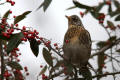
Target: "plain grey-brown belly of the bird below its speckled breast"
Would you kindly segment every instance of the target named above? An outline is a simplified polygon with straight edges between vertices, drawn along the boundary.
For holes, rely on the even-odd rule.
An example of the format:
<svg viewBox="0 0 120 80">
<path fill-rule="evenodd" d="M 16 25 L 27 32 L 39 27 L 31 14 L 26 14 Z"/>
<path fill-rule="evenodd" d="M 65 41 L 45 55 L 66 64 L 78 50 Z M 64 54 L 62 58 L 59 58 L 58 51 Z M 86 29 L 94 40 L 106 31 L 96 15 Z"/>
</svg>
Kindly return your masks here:
<svg viewBox="0 0 120 80">
<path fill-rule="evenodd" d="M 89 59 L 89 53 L 85 45 L 79 45 L 77 42 L 66 45 L 64 52 L 64 56 L 75 65 L 87 63 Z"/>
</svg>

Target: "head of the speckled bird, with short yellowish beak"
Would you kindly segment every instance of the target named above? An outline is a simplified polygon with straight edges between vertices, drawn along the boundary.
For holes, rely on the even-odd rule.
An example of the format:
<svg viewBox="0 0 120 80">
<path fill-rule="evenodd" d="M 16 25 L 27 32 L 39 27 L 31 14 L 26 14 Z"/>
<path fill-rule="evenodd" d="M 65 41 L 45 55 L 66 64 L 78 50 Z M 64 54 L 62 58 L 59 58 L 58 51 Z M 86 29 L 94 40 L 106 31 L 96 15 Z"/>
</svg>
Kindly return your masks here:
<svg viewBox="0 0 120 80">
<path fill-rule="evenodd" d="M 75 26 L 83 26 L 80 18 L 77 15 L 72 15 L 72 16 L 66 16 L 66 18 L 68 19 L 68 25 L 69 27 L 71 25 L 75 25 Z"/>
</svg>

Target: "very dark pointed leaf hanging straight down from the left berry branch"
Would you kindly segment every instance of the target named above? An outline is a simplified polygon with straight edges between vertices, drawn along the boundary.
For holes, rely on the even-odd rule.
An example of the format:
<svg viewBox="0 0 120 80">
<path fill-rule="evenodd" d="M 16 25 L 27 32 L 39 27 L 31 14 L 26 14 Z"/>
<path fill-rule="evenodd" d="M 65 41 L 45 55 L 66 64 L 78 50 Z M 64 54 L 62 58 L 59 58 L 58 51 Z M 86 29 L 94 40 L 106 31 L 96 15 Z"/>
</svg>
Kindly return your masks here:
<svg viewBox="0 0 120 80">
<path fill-rule="evenodd" d="M 36 39 L 29 39 L 30 42 L 30 48 L 33 52 L 33 54 L 37 57 L 39 53 L 39 44 Z"/>
</svg>

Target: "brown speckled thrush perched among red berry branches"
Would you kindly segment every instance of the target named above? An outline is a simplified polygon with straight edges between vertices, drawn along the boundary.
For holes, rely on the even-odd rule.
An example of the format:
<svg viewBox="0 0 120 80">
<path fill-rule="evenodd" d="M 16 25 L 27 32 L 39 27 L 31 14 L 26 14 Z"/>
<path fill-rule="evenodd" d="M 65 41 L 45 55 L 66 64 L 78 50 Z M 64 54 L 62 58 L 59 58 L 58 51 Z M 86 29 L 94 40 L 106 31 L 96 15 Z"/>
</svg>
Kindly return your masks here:
<svg viewBox="0 0 120 80">
<path fill-rule="evenodd" d="M 90 33 L 84 28 L 77 15 L 66 16 L 66 18 L 68 19 L 68 29 L 63 41 L 63 56 L 78 68 L 86 67 L 91 55 Z"/>
</svg>

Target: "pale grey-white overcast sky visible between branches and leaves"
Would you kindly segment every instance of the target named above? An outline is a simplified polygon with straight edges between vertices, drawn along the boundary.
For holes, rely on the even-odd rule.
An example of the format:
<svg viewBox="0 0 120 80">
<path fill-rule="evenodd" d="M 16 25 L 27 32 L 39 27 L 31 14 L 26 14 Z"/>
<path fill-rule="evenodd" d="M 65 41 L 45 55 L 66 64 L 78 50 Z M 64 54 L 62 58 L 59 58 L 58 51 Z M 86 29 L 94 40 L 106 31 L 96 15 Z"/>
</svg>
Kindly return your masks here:
<svg viewBox="0 0 120 80">
<path fill-rule="evenodd" d="M 3 0 L 4 1 L 4 0 Z M 103 0 L 79 0 L 79 2 L 89 5 L 95 6 L 98 5 L 99 2 Z M 83 12 L 83 9 L 72 9 L 66 10 L 67 8 L 73 6 L 72 0 L 53 0 L 46 12 L 43 11 L 42 8 L 36 10 L 43 0 L 16 0 L 15 6 L 11 7 L 10 5 L 3 5 L 0 7 L 1 12 L 4 14 L 7 10 L 12 10 L 12 15 L 20 15 L 25 11 L 32 11 L 27 18 L 19 23 L 19 26 L 27 26 L 32 27 L 39 31 L 39 36 L 50 39 L 52 44 L 59 43 L 62 45 L 64 34 L 68 28 L 68 21 L 65 18 L 65 15 L 78 15 L 80 17 L 80 12 Z M 104 7 L 103 11 L 106 10 L 107 7 Z M 0 14 L 2 16 L 3 14 Z M 81 18 L 81 17 L 80 17 Z M 100 27 L 99 22 L 95 20 L 89 13 L 81 18 L 84 27 L 90 32 L 91 38 L 93 41 L 105 41 L 108 39 L 108 35 L 106 31 Z M 96 46 L 92 45 L 92 48 Z M 36 80 L 37 75 L 41 71 L 40 65 L 45 65 L 45 61 L 42 56 L 42 48 L 41 45 L 39 56 L 36 58 L 30 50 L 29 43 L 25 43 L 19 46 L 20 52 L 22 55 L 20 58 L 20 63 L 23 66 L 28 66 L 28 70 L 30 75 L 27 76 L 27 80 Z M 90 60 L 90 63 L 93 67 L 97 67 L 96 61 Z M 56 79 L 61 80 L 61 79 Z M 104 78 L 103 78 L 104 80 Z M 108 77 L 107 80 L 113 80 L 111 77 Z"/>
</svg>

